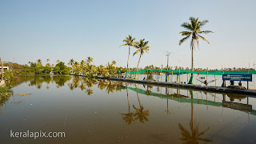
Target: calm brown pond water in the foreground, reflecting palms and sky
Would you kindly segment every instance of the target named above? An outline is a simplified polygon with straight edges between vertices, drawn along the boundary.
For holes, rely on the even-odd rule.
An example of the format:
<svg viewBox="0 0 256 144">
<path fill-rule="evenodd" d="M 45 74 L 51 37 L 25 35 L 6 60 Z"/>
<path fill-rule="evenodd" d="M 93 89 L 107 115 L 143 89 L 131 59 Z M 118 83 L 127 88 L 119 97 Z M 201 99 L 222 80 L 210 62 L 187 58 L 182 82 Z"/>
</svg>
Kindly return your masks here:
<svg viewBox="0 0 256 144">
<path fill-rule="evenodd" d="M 1 102 L 0 143 L 256 143 L 256 99 L 245 95 L 72 76 L 22 75 L 12 85 L 29 95 Z"/>
</svg>

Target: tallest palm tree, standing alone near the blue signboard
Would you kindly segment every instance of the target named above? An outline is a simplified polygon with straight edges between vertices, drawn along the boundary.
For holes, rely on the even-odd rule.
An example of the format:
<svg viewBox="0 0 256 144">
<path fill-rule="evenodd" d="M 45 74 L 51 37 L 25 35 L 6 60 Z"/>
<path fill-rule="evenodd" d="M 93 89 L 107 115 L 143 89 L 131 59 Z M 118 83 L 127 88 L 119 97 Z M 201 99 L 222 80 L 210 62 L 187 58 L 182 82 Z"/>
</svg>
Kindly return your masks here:
<svg viewBox="0 0 256 144">
<path fill-rule="evenodd" d="M 195 49 L 195 45 L 199 44 L 199 42 L 198 42 L 199 38 L 201 38 L 203 41 L 208 42 L 207 39 L 203 38 L 200 34 L 214 33 L 210 30 L 201 31 L 202 26 L 205 26 L 207 22 L 208 22 L 208 20 L 203 20 L 202 22 L 200 22 L 198 20 L 198 18 L 190 17 L 190 23 L 189 22 L 182 23 L 182 27 L 184 27 L 186 30 L 189 30 L 189 31 L 180 32 L 180 34 L 182 34 L 182 36 L 185 36 L 185 38 L 182 38 L 179 41 L 179 45 L 182 45 L 182 43 L 185 42 L 186 39 L 190 38 L 190 36 L 192 37 L 191 42 L 190 42 L 190 49 L 192 51 L 191 71 L 194 71 L 194 49 Z M 210 42 L 208 42 L 208 43 L 210 44 Z M 191 74 L 189 83 L 190 84 L 193 83 L 193 74 Z"/>
</svg>

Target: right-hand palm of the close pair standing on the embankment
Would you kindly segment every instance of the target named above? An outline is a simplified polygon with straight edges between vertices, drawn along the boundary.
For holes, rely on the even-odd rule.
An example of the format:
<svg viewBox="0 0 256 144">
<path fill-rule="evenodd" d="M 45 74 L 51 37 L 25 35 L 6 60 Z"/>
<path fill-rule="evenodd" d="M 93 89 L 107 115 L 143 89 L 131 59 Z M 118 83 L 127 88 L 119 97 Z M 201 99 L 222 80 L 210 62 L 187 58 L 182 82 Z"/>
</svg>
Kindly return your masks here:
<svg viewBox="0 0 256 144">
<path fill-rule="evenodd" d="M 144 41 L 145 41 L 145 38 L 141 39 L 139 42 L 135 42 L 135 45 L 134 45 L 136 48 L 138 48 L 138 50 L 136 50 L 134 52 L 134 55 L 140 53 L 139 59 L 138 59 L 138 64 L 142 58 L 142 54 L 147 53 L 150 50 L 150 46 L 147 46 L 148 41 L 146 41 L 146 42 L 144 42 Z M 137 71 L 138 71 L 138 66 L 137 66 Z M 137 76 L 137 74 L 136 74 L 136 76 Z"/>
</svg>

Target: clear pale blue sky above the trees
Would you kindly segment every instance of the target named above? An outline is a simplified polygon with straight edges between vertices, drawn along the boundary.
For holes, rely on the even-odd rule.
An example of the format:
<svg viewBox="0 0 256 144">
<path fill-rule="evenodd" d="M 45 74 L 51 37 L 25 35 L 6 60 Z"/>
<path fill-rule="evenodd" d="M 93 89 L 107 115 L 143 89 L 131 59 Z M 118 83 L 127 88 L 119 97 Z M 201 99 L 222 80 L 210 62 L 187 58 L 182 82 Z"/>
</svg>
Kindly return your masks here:
<svg viewBox="0 0 256 144">
<path fill-rule="evenodd" d="M 0 57 L 6 62 L 27 64 L 39 58 L 46 64 L 57 60 L 81 62 L 94 58 L 94 65 L 116 61 L 126 66 L 128 47 L 120 45 L 128 34 L 145 38 L 150 51 L 139 67 L 191 67 L 190 40 L 178 45 L 183 22 L 190 17 L 207 19 L 202 30 L 210 42 L 199 41 L 194 67 L 256 66 L 256 1 L 254 0 L 0 0 Z M 130 67 L 138 64 L 132 56 Z"/>
</svg>

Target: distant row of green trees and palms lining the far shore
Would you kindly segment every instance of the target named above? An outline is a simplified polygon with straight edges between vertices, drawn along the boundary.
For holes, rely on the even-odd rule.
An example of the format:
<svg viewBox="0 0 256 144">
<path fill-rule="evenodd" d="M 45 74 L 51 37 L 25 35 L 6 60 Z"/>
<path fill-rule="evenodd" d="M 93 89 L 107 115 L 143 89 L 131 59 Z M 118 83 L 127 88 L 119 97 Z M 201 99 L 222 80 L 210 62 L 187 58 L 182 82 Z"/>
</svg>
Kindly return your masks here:
<svg viewBox="0 0 256 144">
<path fill-rule="evenodd" d="M 42 65 L 42 60 L 38 59 L 37 62 L 28 62 L 26 65 L 19 65 L 17 63 L 5 62 L 4 66 L 10 66 L 10 69 L 15 74 L 86 74 L 88 76 L 104 76 L 109 77 L 110 75 L 116 74 L 118 71 L 136 71 L 136 70 L 167 70 L 167 66 L 145 66 L 144 68 L 133 67 L 127 69 L 126 67 L 116 66 L 116 62 L 107 62 L 106 65 L 95 66 L 92 63 L 94 62 L 94 58 L 87 57 L 85 60 L 81 62 L 76 62 L 74 58 L 70 59 L 67 65 L 64 62 L 57 61 L 56 65 L 50 64 L 49 60 L 47 61 L 45 66 Z M 127 62 L 128 64 L 128 62 Z M 190 70 L 189 67 L 182 66 L 170 66 L 168 70 Z M 196 71 L 206 71 L 206 68 L 194 68 Z M 210 70 L 218 70 L 218 69 L 209 69 Z M 221 70 L 225 71 L 247 71 L 254 70 L 253 68 L 223 68 Z M 6 73 L 8 74 L 8 73 Z"/>
</svg>

